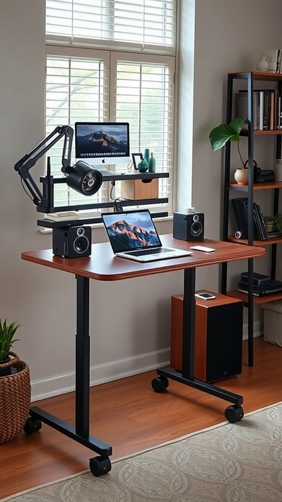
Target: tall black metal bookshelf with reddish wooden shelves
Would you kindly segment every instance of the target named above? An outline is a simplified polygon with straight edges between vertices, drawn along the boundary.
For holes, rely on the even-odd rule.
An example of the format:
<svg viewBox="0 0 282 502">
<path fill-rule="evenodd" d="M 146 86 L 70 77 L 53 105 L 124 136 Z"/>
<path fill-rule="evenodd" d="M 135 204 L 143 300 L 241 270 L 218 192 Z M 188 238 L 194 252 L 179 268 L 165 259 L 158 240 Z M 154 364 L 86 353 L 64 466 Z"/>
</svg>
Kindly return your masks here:
<svg viewBox="0 0 282 502">
<path fill-rule="evenodd" d="M 233 84 L 236 81 L 236 89 L 238 87 L 238 81 L 244 82 L 244 89 L 246 90 L 246 103 L 247 103 L 247 118 L 248 118 L 248 128 L 241 132 L 241 136 L 247 138 L 247 149 L 248 149 L 248 169 L 249 180 L 253 180 L 253 161 L 254 161 L 254 138 L 260 136 L 275 136 L 275 153 L 276 159 L 282 158 L 282 130 L 280 129 L 264 129 L 264 130 L 254 130 L 254 91 L 261 89 L 256 86 L 256 81 L 268 82 L 269 88 L 274 88 L 276 96 L 280 96 L 280 101 L 282 101 L 282 73 L 267 73 L 267 72 L 239 72 L 239 73 L 228 73 L 227 80 L 227 111 L 226 111 L 226 123 L 229 123 L 232 118 L 235 117 L 235 99 Z M 267 87 L 267 86 L 264 86 Z M 278 98 L 276 98 L 276 103 Z M 282 103 L 280 104 L 282 109 Z M 239 115 L 241 116 L 241 115 Z M 276 115 L 278 116 L 278 114 Z M 273 115 L 272 115 L 273 117 Z M 276 122 L 272 122 L 272 127 L 275 127 Z M 260 126 L 261 127 L 261 126 Z M 256 141 L 259 141 L 258 139 Z M 223 240 L 229 242 L 236 242 L 238 244 L 254 245 L 267 247 L 270 254 L 270 266 L 269 266 L 269 276 L 272 280 L 276 279 L 276 260 L 277 260 L 277 248 L 278 244 L 282 243 L 282 235 L 271 237 L 267 240 L 257 240 L 254 236 L 258 236 L 263 233 L 265 235 L 265 229 L 263 230 L 263 221 L 261 223 L 261 212 L 257 210 L 258 204 L 255 203 L 255 194 L 257 191 L 261 190 L 272 190 L 272 214 L 278 214 L 279 208 L 279 193 L 282 188 L 282 181 L 267 181 L 259 183 L 251 183 L 248 185 L 238 185 L 235 182 L 230 181 L 230 164 L 231 164 L 231 148 L 230 142 L 227 142 L 225 146 L 225 171 L 224 171 L 224 200 L 223 200 Z M 243 198 L 243 200 L 233 201 L 233 209 L 236 210 L 237 223 L 241 222 L 245 232 L 243 235 L 247 235 L 247 238 L 236 238 L 234 235 L 230 235 L 229 224 L 229 208 L 230 208 L 230 194 L 237 192 L 236 198 Z M 232 196 L 234 198 L 234 195 Z M 247 211 L 244 208 L 244 204 L 247 205 Z M 243 206 L 244 209 L 240 208 Z M 253 211 L 249 211 L 249 207 L 256 207 Z M 258 213 L 260 217 L 258 217 Z M 245 221 L 245 223 L 244 223 Z M 258 225 L 259 223 L 259 225 Z M 256 225 L 256 231 L 254 232 L 254 226 Z M 238 224 L 238 228 L 239 224 Z M 261 229 L 263 230 L 261 232 Z M 227 268 L 228 264 L 222 264 L 222 274 L 221 274 L 221 293 L 234 298 L 243 300 L 244 306 L 248 308 L 248 365 L 253 366 L 253 310 L 255 305 L 260 305 L 262 303 L 281 300 L 282 293 L 275 293 L 263 297 L 256 297 L 252 295 L 253 284 L 253 273 L 254 273 L 254 259 L 248 260 L 248 274 L 249 274 L 249 287 L 251 290 L 249 293 L 242 293 L 240 291 L 228 291 L 227 292 Z M 238 278 L 239 279 L 239 278 Z"/>
</svg>

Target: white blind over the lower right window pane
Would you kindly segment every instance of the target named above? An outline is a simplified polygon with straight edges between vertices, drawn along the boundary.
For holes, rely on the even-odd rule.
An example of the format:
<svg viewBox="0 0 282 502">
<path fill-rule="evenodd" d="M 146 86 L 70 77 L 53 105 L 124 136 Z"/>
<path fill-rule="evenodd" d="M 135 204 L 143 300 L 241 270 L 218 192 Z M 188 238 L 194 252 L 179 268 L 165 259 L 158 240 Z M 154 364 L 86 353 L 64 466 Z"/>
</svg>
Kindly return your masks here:
<svg viewBox="0 0 282 502">
<path fill-rule="evenodd" d="M 130 123 L 130 150 L 154 152 L 158 172 L 172 171 L 174 59 L 159 63 L 111 58 L 116 74 L 116 119 Z M 116 196 L 119 194 L 117 193 Z M 170 180 L 159 179 L 159 197 L 170 197 Z"/>
</svg>

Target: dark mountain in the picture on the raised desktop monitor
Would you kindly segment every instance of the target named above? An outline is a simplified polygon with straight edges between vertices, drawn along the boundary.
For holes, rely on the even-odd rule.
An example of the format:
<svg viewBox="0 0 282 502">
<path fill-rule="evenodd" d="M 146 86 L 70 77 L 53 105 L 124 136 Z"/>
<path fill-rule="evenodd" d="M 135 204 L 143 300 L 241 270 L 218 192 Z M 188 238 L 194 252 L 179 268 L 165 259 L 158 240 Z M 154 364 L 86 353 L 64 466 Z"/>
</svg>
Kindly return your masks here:
<svg viewBox="0 0 282 502">
<path fill-rule="evenodd" d="M 127 145 L 113 136 L 108 136 L 102 131 L 77 137 L 78 148 L 81 154 L 101 155 L 126 155 Z"/>
</svg>

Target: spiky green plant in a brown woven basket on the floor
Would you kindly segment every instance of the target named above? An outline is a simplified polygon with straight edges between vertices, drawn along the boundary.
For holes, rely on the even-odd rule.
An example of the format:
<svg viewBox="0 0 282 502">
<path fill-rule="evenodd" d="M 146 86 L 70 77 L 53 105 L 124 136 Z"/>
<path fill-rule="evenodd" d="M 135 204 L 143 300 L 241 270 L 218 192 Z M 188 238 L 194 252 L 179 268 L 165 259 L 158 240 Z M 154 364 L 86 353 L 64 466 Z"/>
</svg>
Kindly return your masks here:
<svg viewBox="0 0 282 502">
<path fill-rule="evenodd" d="M 23 429 L 31 403 L 30 370 L 11 351 L 20 323 L 0 319 L 0 444 L 14 439 Z"/>
</svg>

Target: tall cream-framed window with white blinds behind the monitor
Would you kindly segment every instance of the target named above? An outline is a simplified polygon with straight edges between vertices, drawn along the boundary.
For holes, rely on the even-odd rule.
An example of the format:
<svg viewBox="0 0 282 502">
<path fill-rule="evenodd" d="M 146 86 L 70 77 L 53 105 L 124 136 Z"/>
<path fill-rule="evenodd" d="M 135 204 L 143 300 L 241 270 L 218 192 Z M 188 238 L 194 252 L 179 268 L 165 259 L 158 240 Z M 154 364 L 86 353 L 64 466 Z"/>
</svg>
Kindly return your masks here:
<svg viewBox="0 0 282 502">
<path fill-rule="evenodd" d="M 172 212 L 176 0 L 46 0 L 46 134 L 75 121 L 128 121 L 130 151 L 154 152 L 159 197 Z M 61 175 L 61 144 L 49 152 Z M 73 148 L 74 156 L 74 148 Z M 75 162 L 75 159 L 72 159 Z M 114 166 L 118 171 L 127 165 Z M 59 187 L 59 188 L 57 188 Z M 55 185 L 55 205 L 120 196 L 103 183 L 92 197 Z M 89 200 L 91 199 L 91 200 Z"/>
</svg>

